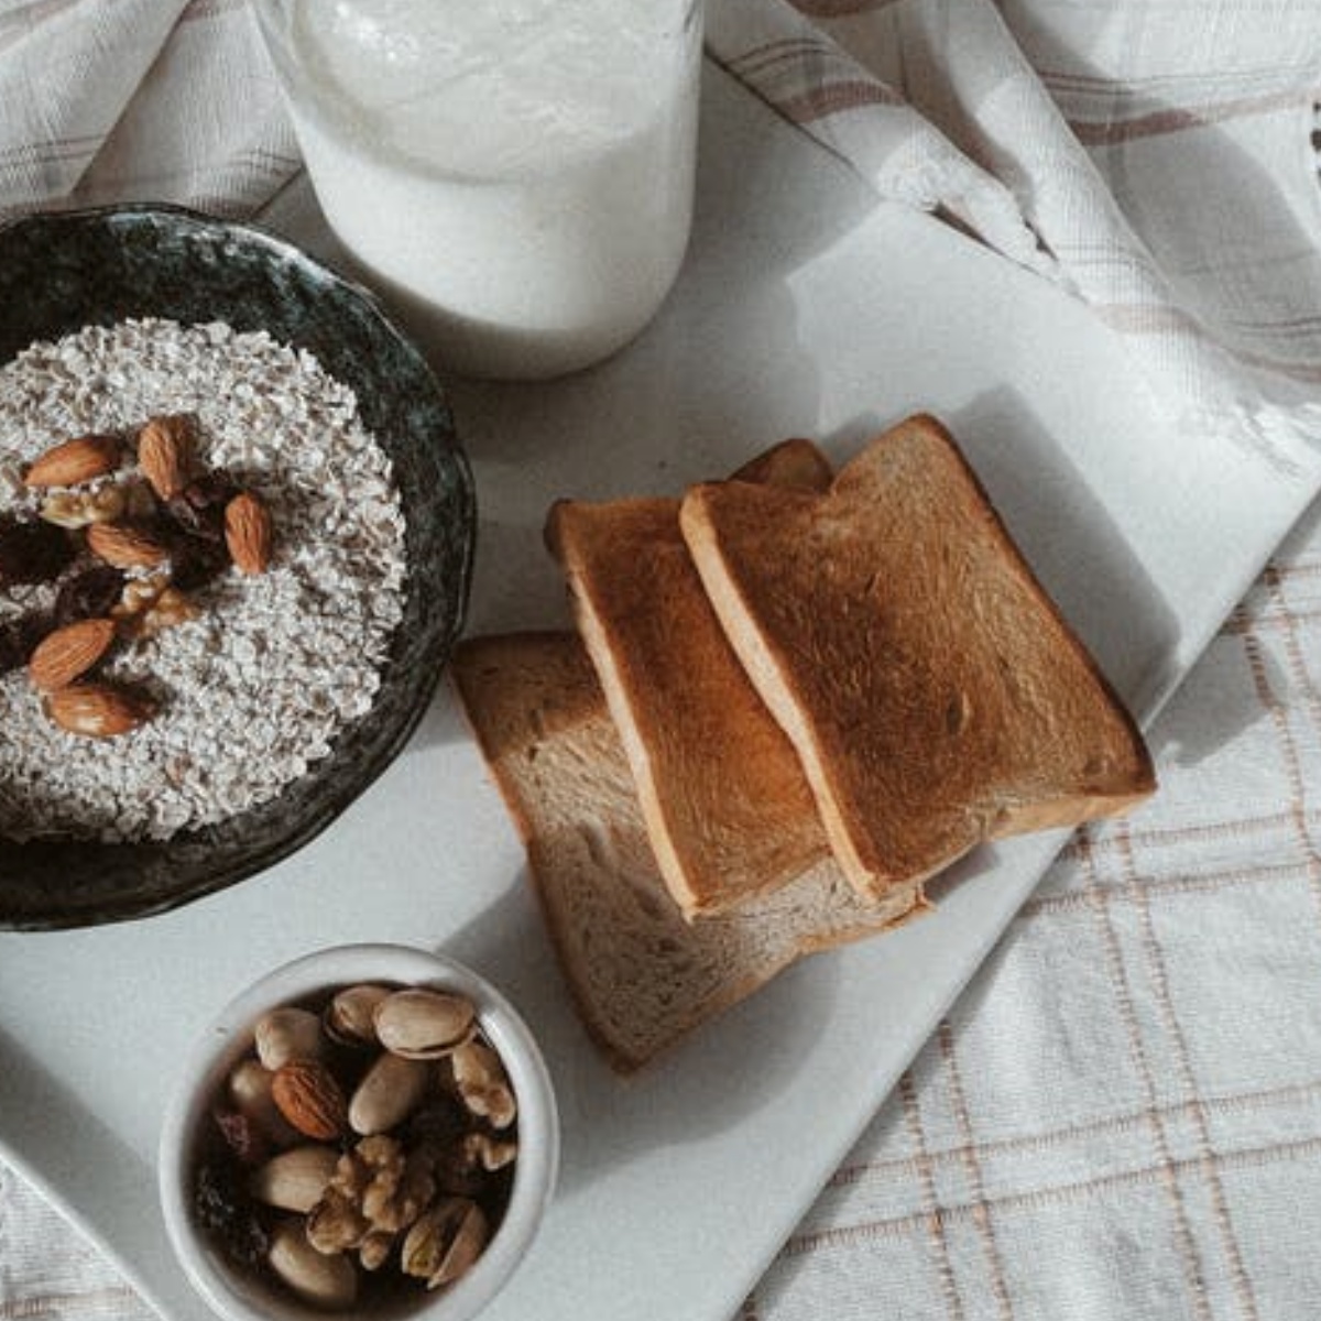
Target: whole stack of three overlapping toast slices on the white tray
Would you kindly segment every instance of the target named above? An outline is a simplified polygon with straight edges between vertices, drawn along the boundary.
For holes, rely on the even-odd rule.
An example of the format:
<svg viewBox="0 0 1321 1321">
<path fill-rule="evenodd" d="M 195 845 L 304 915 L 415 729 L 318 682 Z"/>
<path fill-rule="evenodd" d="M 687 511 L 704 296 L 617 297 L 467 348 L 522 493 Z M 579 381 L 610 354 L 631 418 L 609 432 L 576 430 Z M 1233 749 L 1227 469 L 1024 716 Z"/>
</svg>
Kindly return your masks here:
<svg viewBox="0 0 1321 1321">
<path fill-rule="evenodd" d="M 952 437 L 786 441 L 682 499 L 561 501 L 577 631 L 452 674 L 581 1017 L 624 1071 L 987 839 L 1122 812 L 1141 734 Z"/>
</svg>

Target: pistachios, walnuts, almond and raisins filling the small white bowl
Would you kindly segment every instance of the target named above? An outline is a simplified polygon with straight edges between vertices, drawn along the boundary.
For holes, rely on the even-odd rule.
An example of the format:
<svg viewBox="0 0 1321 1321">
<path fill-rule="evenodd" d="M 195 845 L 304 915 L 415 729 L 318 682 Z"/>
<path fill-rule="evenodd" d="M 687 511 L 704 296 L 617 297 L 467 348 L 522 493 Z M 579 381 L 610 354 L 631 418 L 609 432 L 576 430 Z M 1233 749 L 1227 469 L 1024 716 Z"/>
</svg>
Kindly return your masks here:
<svg viewBox="0 0 1321 1321">
<path fill-rule="evenodd" d="M 473 1004 L 358 984 L 268 1012 L 214 1099 L 201 1226 L 239 1267 L 342 1310 L 482 1255 L 509 1203 L 518 1106 Z"/>
</svg>

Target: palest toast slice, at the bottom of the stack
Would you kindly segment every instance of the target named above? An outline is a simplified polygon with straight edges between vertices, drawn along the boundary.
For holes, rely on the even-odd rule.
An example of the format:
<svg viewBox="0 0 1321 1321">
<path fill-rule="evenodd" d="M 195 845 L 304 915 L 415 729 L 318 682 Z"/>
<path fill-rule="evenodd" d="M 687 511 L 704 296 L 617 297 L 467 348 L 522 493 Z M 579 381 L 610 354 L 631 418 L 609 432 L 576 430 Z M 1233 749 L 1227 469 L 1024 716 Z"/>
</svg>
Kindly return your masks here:
<svg viewBox="0 0 1321 1321">
<path fill-rule="evenodd" d="M 464 641 L 450 676 L 527 848 L 580 1016 L 631 1071 L 795 959 L 925 910 L 861 900 L 826 859 L 736 913 L 684 921 L 657 868 L 596 672 L 571 633 Z"/>
</svg>

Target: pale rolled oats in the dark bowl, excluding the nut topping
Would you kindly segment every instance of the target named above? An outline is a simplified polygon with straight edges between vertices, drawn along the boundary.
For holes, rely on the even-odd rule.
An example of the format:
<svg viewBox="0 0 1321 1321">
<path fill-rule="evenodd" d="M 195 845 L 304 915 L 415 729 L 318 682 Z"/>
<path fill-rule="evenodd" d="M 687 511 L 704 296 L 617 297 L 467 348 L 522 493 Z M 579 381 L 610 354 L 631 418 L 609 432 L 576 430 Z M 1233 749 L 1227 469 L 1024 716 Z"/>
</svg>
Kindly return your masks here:
<svg viewBox="0 0 1321 1321">
<path fill-rule="evenodd" d="M 242 473 L 279 544 L 266 573 L 225 572 L 188 594 L 190 617 L 115 650 L 104 679 L 145 688 L 159 711 L 112 745 L 58 729 L 21 671 L 0 675 L 0 835 L 12 840 L 168 839 L 223 820 L 329 754 L 380 687 L 403 617 L 403 511 L 353 391 L 305 350 L 162 320 L 30 345 L 0 369 L 0 513 L 36 517 L 63 494 L 16 481 L 52 445 L 159 415 L 196 417 L 197 458 Z M 57 507 L 82 510 L 89 491 L 69 491 Z M 0 593 L 0 630 L 54 600 L 54 584 Z"/>
</svg>

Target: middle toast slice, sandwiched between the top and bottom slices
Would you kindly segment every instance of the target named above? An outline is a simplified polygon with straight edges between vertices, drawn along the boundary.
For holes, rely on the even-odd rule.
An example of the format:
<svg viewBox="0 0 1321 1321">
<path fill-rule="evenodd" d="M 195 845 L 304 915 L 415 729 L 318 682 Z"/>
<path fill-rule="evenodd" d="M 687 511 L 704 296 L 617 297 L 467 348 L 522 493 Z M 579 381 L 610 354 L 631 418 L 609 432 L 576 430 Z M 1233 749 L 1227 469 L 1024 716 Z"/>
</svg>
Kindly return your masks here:
<svg viewBox="0 0 1321 1321">
<path fill-rule="evenodd" d="M 803 490 L 824 490 L 831 476 L 806 440 L 734 473 Z M 711 609 L 679 531 L 679 501 L 560 501 L 546 536 L 684 915 L 727 911 L 824 857 L 798 754 Z"/>
</svg>

